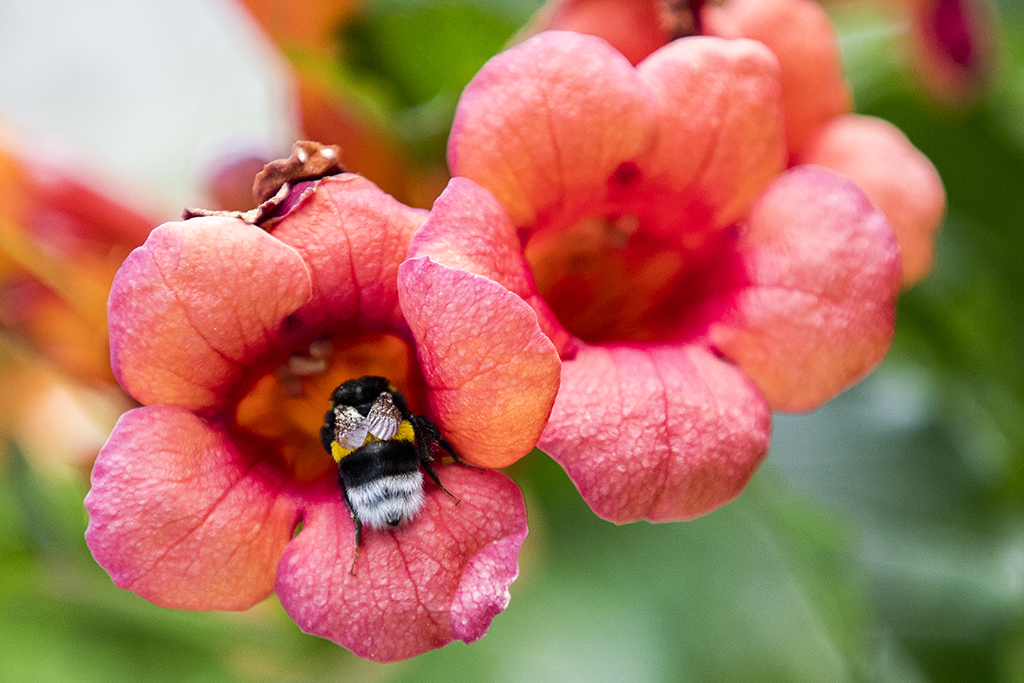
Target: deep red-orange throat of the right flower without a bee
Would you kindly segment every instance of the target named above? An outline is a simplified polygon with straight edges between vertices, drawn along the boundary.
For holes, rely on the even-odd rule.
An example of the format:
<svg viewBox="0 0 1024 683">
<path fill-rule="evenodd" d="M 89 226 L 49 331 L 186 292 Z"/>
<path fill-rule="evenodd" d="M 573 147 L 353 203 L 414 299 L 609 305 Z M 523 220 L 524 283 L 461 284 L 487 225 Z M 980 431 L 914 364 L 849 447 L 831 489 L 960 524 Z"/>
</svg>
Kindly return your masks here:
<svg viewBox="0 0 1024 683">
<path fill-rule="evenodd" d="M 736 272 L 736 231 L 670 242 L 626 214 L 542 230 L 525 255 L 538 291 L 588 343 L 678 341 L 699 333 L 702 307 Z"/>
</svg>

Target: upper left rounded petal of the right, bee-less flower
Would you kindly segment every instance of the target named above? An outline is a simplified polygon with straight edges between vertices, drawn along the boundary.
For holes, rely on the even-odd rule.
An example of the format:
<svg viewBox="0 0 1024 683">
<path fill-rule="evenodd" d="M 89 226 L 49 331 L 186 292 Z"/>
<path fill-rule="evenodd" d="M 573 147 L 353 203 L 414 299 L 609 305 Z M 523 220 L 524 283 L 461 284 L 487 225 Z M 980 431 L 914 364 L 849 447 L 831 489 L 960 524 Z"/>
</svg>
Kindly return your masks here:
<svg viewBox="0 0 1024 683">
<path fill-rule="evenodd" d="M 652 142 L 655 102 L 600 38 L 542 33 L 493 57 L 462 93 L 453 175 L 489 189 L 516 225 L 599 210 L 616 170 Z"/>
</svg>

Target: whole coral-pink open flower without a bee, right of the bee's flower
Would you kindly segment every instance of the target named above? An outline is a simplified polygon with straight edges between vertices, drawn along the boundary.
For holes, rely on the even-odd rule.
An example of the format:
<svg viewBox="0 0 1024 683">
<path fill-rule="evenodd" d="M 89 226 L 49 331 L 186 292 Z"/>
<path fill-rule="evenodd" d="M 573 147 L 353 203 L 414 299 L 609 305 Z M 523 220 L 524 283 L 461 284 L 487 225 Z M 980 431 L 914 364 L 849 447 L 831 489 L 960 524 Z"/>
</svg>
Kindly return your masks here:
<svg viewBox="0 0 1024 683">
<path fill-rule="evenodd" d="M 729 502 L 771 410 L 812 410 L 885 356 L 892 228 L 850 180 L 786 157 L 778 59 L 753 40 L 684 38 L 634 67 L 546 32 L 463 92 L 446 198 L 461 199 L 430 220 L 461 212 L 504 236 L 500 260 L 525 274 L 503 284 L 563 360 L 539 446 L 600 516 Z"/>
</svg>

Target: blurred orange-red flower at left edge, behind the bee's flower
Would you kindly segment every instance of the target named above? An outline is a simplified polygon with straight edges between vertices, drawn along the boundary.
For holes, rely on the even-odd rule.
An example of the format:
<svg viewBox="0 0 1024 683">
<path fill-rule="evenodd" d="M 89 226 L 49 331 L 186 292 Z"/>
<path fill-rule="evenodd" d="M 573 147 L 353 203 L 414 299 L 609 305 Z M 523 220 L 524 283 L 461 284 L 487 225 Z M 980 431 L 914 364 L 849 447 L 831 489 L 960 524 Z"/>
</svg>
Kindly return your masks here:
<svg viewBox="0 0 1024 683">
<path fill-rule="evenodd" d="M 106 293 L 156 220 L 0 148 L 0 328 L 58 370 L 115 385 Z"/>
</svg>

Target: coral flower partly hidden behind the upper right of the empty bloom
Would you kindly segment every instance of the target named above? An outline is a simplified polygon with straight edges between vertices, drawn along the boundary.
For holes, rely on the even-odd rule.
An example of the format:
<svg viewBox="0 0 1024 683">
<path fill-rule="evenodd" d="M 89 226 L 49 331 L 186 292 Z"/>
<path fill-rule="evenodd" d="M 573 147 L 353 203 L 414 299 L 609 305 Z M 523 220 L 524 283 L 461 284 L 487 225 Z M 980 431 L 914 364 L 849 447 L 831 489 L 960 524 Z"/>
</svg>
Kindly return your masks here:
<svg viewBox="0 0 1024 683">
<path fill-rule="evenodd" d="M 932 269 L 945 215 L 942 180 L 928 158 L 888 121 L 851 114 L 842 55 L 827 14 L 811 0 L 727 0 L 706 7 L 707 35 L 754 38 L 782 66 L 792 164 L 818 164 L 853 179 L 892 223 L 903 285 Z"/>
</svg>

